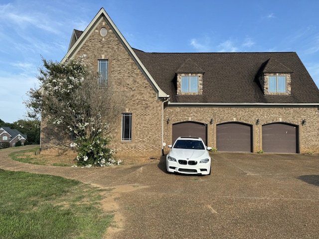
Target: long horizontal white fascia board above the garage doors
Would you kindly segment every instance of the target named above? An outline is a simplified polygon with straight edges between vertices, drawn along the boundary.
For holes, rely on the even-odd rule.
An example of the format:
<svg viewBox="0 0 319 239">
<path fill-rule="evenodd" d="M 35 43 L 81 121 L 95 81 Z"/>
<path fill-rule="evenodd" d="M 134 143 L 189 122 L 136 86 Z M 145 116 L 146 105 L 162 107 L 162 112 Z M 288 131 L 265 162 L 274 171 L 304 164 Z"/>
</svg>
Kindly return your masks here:
<svg viewBox="0 0 319 239">
<path fill-rule="evenodd" d="M 318 107 L 319 103 L 182 103 L 168 102 L 168 106 L 235 106 L 235 107 Z"/>
</svg>

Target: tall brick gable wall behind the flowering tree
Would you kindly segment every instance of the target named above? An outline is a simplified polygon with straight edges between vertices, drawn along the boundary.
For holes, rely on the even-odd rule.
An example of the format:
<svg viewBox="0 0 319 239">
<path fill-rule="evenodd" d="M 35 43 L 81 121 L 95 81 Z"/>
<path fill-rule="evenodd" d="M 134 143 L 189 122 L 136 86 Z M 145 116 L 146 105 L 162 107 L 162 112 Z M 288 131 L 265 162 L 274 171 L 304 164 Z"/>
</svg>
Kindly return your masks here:
<svg viewBox="0 0 319 239">
<path fill-rule="evenodd" d="M 101 36 L 100 29 L 106 27 L 106 36 Z M 158 156 L 161 154 L 161 112 L 162 103 L 147 78 L 143 75 L 133 58 L 104 19 L 91 29 L 87 40 L 72 55 L 98 71 L 98 59 L 109 62 L 108 81 L 113 87 L 121 89 L 126 97 L 125 112 L 132 113 L 132 141 L 122 141 L 122 118 L 119 115 L 117 126 L 112 129 L 110 147 L 118 150 L 118 156 Z M 69 147 L 70 136 L 62 129 L 52 128 L 42 123 L 41 148 Z M 43 152 L 43 151 L 42 151 Z M 45 152 L 43 152 L 45 153 Z"/>
</svg>

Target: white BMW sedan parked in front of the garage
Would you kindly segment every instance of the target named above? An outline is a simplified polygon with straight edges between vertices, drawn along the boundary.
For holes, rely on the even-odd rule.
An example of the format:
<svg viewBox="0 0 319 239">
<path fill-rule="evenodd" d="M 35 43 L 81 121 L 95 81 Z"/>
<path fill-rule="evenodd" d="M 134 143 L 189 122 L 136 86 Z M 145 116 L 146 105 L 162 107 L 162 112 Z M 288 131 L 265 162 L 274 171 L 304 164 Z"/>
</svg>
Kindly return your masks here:
<svg viewBox="0 0 319 239">
<path fill-rule="evenodd" d="M 210 156 L 200 137 L 178 137 L 166 156 L 168 173 L 210 174 Z"/>
</svg>

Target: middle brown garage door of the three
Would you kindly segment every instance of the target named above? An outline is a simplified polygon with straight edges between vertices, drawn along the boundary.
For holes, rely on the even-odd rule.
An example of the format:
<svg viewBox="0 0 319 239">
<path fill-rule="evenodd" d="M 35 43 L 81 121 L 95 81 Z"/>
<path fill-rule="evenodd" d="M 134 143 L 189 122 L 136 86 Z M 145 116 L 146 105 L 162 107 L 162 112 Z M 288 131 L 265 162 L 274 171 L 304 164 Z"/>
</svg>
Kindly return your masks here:
<svg viewBox="0 0 319 239">
<path fill-rule="evenodd" d="M 251 152 L 252 126 L 244 123 L 222 123 L 216 125 L 218 151 Z"/>
</svg>

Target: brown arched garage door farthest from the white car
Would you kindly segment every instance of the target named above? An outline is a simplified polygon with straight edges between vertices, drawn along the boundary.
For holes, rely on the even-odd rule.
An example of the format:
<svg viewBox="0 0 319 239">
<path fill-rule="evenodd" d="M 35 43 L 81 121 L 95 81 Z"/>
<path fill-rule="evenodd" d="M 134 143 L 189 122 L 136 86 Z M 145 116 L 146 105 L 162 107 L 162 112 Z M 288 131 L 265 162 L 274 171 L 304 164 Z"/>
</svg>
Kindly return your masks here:
<svg viewBox="0 0 319 239">
<path fill-rule="evenodd" d="M 298 126 L 286 123 L 263 125 L 263 150 L 274 153 L 298 152 Z"/>
</svg>

